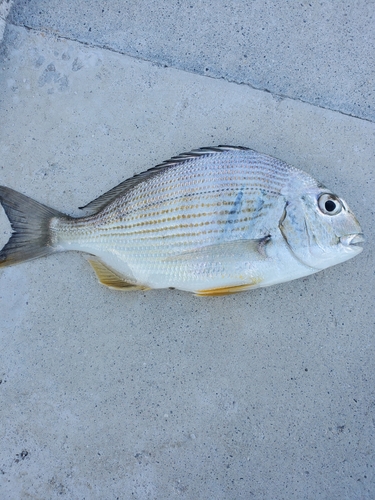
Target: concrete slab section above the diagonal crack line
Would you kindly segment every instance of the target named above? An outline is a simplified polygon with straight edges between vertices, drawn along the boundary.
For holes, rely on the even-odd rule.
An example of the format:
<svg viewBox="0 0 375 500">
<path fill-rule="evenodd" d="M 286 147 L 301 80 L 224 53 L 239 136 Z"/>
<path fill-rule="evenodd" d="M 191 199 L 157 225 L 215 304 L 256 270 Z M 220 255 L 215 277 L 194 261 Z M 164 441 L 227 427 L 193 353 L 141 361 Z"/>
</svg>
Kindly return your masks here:
<svg viewBox="0 0 375 500">
<path fill-rule="evenodd" d="M 373 0 L 18 0 L 10 20 L 375 120 Z"/>
</svg>

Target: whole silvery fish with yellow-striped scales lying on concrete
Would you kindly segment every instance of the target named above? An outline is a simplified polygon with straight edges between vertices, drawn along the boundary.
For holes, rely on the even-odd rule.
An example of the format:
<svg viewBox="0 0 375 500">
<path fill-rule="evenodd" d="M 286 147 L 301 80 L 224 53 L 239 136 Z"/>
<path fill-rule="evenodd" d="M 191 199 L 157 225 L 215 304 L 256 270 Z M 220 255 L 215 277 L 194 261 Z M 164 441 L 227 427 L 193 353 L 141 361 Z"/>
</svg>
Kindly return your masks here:
<svg viewBox="0 0 375 500">
<path fill-rule="evenodd" d="M 347 203 L 308 173 L 242 146 L 196 149 L 135 175 L 71 217 L 5 186 L 0 267 L 88 254 L 115 290 L 222 296 L 344 262 L 364 236 Z"/>
</svg>

